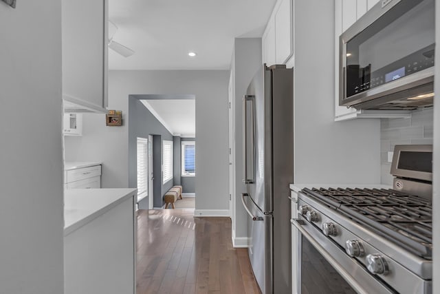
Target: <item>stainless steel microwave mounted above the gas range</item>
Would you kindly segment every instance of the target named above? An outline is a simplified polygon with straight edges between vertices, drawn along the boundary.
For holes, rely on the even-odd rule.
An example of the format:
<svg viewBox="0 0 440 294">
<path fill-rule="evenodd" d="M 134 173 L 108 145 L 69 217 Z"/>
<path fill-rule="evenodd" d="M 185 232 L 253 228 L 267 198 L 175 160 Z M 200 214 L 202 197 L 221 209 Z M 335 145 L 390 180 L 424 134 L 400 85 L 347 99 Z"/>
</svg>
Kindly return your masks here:
<svg viewBox="0 0 440 294">
<path fill-rule="evenodd" d="M 341 106 L 433 105 L 434 0 L 381 0 L 340 36 Z"/>
</svg>

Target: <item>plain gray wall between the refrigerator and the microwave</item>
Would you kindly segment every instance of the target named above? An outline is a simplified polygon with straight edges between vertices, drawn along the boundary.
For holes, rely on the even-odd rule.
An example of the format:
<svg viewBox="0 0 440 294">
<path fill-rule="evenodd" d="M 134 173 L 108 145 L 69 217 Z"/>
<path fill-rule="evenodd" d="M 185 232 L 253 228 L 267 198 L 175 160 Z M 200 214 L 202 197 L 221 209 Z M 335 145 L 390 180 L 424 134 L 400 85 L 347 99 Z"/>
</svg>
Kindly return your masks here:
<svg viewBox="0 0 440 294">
<path fill-rule="evenodd" d="M 295 2 L 294 182 L 377 184 L 380 120 L 334 121 L 333 6 Z"/>
</svg>

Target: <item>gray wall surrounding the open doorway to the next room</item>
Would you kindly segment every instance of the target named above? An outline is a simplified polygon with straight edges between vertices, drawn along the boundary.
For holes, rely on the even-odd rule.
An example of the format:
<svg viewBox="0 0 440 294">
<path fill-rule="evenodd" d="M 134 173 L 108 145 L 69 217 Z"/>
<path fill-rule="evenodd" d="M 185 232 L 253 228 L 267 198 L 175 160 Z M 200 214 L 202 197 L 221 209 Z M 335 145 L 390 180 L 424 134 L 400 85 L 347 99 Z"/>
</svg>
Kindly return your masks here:
<svg viewBox="0 0 440 294">
<path fill-rule="evenodd" d="M 109 109 L 122 110 L 123 125 L 106 127 L 104 115 L 86 116 L 83 136 L 66 148 L 70 153 L 66 159 L 100 160 L 104 162 L 102 187 L 128 187 L 130 94 L 195 95 L 196 209 L 227 210 L 228 71 L 225 70 L 110 71 Z M 66 145 L 72 141 L 66 141 Z"/>
</svg>

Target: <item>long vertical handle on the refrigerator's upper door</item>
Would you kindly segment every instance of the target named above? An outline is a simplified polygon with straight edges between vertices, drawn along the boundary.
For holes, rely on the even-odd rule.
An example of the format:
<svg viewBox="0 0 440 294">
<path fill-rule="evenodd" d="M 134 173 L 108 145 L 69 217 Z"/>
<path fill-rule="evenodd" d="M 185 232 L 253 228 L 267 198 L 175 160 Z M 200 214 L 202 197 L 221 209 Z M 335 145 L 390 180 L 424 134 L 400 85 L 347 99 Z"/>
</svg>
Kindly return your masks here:
<svg viewBox="0 0 440 294">
<path fill-rule="evenodd" d="M 248 109 L 250 104 L 250 109 Z M 248 118 L 250 116 L 250 121 Z M 252 127 L 252 134 L 248 134 L 248 129 Z M 252 184 L 255 182 L 254 176 L 254 158 L 255 158 L 255 96 L 243 96 L 243 182 Z M 251 146 L 248 146 L 248 136 L 251 136 Z M 252 154 L 248 154 L 248 150 L 252 150 Z"/>
</svg>

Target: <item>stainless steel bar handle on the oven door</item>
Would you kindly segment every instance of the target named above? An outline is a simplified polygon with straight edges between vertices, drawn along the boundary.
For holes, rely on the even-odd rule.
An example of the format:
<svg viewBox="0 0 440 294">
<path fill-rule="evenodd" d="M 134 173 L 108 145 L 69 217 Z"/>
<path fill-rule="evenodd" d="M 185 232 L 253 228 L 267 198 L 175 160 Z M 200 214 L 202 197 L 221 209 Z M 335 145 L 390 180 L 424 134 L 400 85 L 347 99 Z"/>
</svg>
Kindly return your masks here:
<svg viewBox="0 0 440 294">
<path fill-rule="evenodd" d="M 316 240 L 309 234 L 309 232 L 307 232 L 303 228 L 303 224 L 305 224 L 304 220 L 300 218 L 292 218 L 290 222 L 296 227 L 296 229 L 298 229 L 298 231 L 300 231 L 301 234 L 303 234 L 303 236 L 305 236 L 305 238 L 307 238 L 307 240 L 316 248 L 316 250 L 318 250 L 319 253 L 321 253 L 322 256 L 324 256 L 324 258 L 331 264 L 331 266 L 333 266 L 336 269 L 336 271 L 338 271 L 338 273 L 340 273 L 340 275 L 344 277 L 344 280 L 346 280 L 347 283 L 349 283 L 353 288 L 355 288 L 355 290 L 358 293 L 369 294 L 369 292 L 364 291 L 362 286 L 360 286 L 360 284 L 358 284 L 358 282 L 354 280 L 353 277 L 351 277 L 350 273 L 347 270 L 345 270 L 339 264 L 339 262 L 335 258 L 333 258 L 333 256 L 331 256 L 321 244 L 316 242 Z"/>
</svg>

